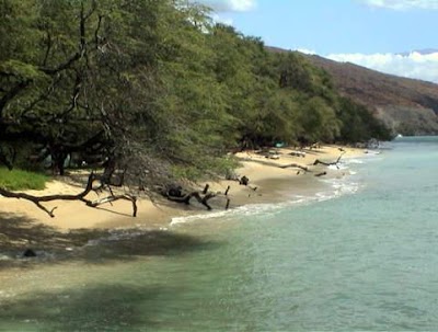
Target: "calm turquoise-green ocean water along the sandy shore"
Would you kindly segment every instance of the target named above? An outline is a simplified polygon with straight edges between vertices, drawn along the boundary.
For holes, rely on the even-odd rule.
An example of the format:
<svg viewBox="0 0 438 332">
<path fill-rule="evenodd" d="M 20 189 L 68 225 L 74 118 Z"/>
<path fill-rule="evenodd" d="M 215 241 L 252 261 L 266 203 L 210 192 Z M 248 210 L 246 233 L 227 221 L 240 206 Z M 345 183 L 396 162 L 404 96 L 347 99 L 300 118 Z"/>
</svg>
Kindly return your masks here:
<svg viewBox="0 0 438 332">
<path fill-rule="evenodd" d="M 0 270 L 0 331 L 438 331 L 437 164 L 402 138 L 315 196 L 175 219 L 153 254 L 139 228 Z"/>
</svg>

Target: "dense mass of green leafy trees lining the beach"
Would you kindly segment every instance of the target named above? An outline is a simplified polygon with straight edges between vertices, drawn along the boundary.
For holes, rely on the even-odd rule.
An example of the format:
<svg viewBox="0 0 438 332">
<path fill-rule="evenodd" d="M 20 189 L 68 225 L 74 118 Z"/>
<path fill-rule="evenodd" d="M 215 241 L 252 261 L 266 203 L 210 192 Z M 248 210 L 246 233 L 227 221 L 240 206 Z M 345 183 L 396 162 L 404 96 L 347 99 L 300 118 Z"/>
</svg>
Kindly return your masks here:
<svg viewBox="0 0 438 332">
<path fill-rule="evenodd" d="M 0 162 L 50 157 L 62 174 L 69 157 L 151 187 L 224 174 L 230 150 L 389 138 L 325 71 L 209 14 L 177 0 L 1 1 Z"/>
</svg>

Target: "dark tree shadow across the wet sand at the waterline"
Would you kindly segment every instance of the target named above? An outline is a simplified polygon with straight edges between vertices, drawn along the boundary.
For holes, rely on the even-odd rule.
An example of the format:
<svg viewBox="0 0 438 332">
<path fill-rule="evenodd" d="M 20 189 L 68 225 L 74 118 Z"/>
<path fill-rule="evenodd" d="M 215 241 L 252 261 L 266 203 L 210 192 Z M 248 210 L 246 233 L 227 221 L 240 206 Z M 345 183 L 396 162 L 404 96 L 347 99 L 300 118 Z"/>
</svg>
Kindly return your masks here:
<svg viewBox="0 0 438 332">
<path fill-rule="evenodd" d="M 0 213 L 0 270 L 80 260 L 106 263 L 149 255 L 178 255 L 210 250 L 219 242 L 158 229 L 76 229 L 60 232 L 20 215 Z M 34 257 L 25 257 L 32 249 Z"/>
</svg>

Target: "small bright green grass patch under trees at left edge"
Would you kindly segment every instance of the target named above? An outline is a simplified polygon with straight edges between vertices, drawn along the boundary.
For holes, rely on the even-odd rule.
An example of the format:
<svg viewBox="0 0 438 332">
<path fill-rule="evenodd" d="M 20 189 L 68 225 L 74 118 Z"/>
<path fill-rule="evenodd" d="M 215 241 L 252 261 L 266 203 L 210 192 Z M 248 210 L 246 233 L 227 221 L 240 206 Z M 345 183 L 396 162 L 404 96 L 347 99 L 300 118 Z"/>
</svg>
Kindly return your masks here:
<svg viewBox="0 0 438 332">
<path fill-rule="evenodd" d="M 0 168 L 0 186 L 9 191 L 44 190 L 49 178 L 35 172 Z"/>
</svg>

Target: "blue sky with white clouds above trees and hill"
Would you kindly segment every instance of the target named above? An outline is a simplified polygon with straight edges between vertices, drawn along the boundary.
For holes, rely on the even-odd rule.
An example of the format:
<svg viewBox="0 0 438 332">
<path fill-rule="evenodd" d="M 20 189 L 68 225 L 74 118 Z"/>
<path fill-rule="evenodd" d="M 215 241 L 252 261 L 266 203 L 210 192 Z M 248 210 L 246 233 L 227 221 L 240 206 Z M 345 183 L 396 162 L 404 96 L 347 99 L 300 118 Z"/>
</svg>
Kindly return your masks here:
<svg viewBox="0 0 438 332">
<path fill-rule="evenodd" d="M 196 0 L 266 45 L 438 83 L 438 0 Z M 428 50 L 428 51 L 419 51 Z"/>
</svg>

